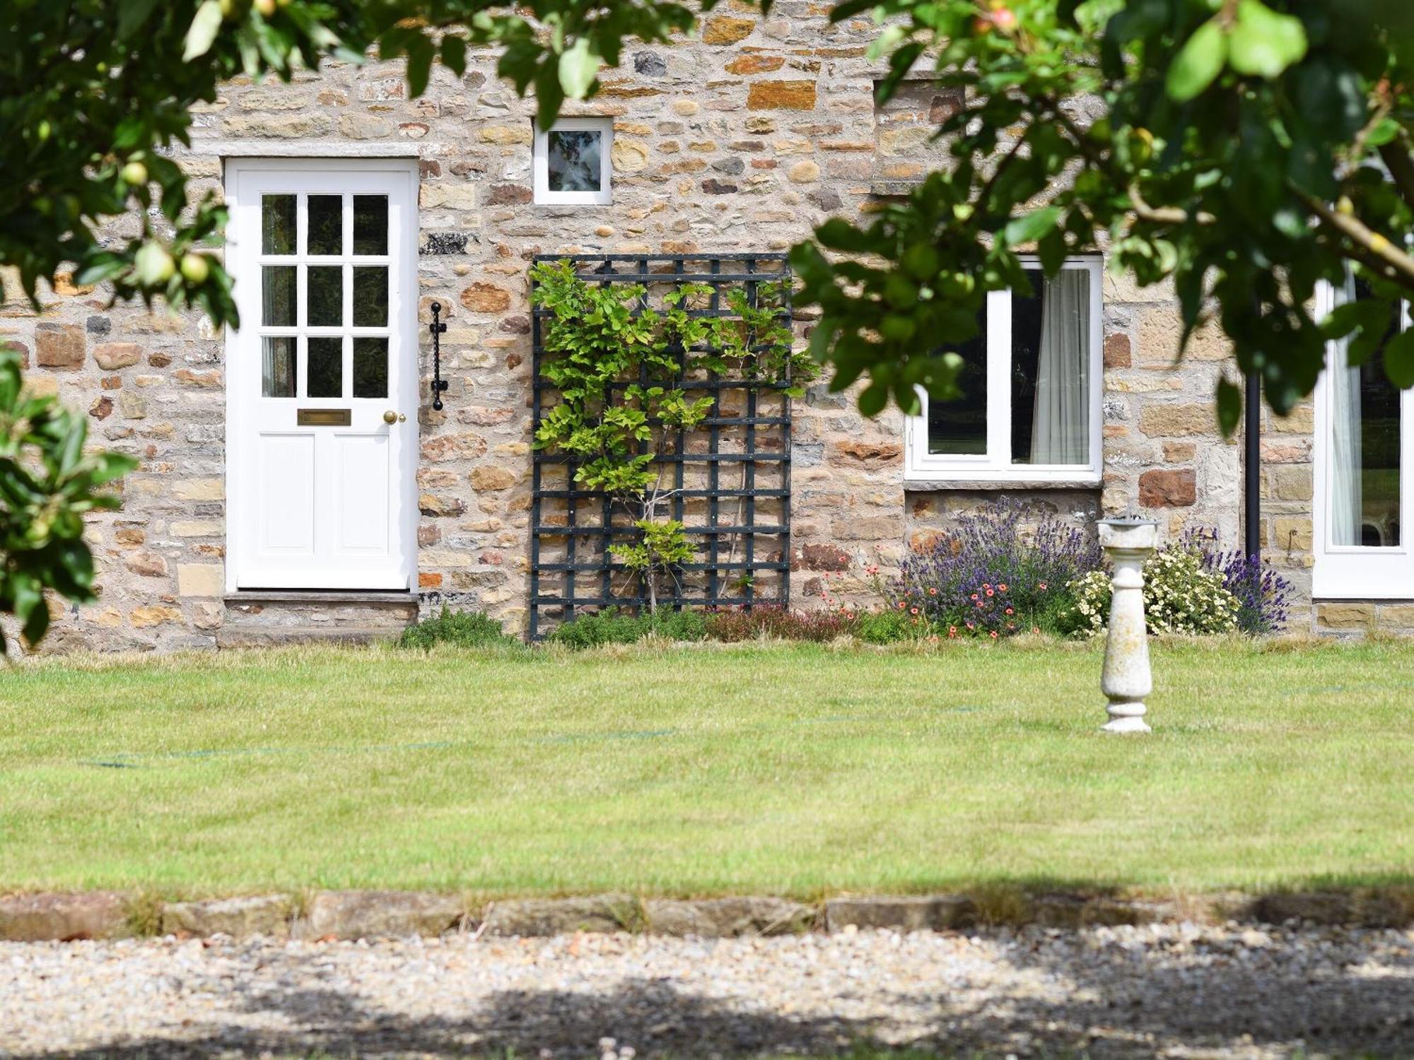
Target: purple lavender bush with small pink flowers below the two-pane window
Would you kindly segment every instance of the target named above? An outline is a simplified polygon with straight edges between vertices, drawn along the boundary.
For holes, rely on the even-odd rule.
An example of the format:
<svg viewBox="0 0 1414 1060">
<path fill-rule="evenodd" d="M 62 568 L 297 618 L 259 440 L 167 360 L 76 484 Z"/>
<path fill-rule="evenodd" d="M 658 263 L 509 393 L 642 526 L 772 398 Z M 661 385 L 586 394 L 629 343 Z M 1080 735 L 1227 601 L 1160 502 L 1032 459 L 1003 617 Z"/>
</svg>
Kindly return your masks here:
<svg viewBox="0 0 1414 1060">
<path fill-rule="evenodd" d="M 959 519 L 932 547 L 911 554 L 888 581 L 870 568 L 889 611 L 952 637 L 998 639 L 1063 632 L 1069 585 L 1099 571 L 1094 536 L 1052 513 L 1000 500 Z M 1027 529 L 1029 524 L 1029 529 Z"/>
</svg>

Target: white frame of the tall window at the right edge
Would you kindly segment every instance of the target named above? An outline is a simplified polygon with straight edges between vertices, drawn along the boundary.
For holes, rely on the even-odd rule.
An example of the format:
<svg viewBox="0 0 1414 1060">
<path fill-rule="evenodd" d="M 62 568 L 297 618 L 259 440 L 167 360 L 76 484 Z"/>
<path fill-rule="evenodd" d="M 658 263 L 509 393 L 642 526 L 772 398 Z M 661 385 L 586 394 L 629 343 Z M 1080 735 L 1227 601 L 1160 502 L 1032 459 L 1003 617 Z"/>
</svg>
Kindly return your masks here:
<svg viewBox="0 0 1414 1060">
<path fill-rule="evenodd" d="M 1321 284 L 1316 291 L 1316 315 L 1325 318 L 1338 304 L 1353 297 L 1355 285 L 1348 283 L 1338 291 Z M 1404 302 L 1404 328 L 1414 326 L 1410 304 Z M 1339 339 L 1326 345 L 1326 367 L 1346 363 L 1349 342 Z M 1326 370 L 1316 379 L 1315 438 L 1311 459 L 1314 468 L 1314 502 L 1311 516 L 1311 595 L 1316 599 L 1407 599 L 1414 596 L 1414 551 L 1410 548 L 1410 517 L 1414 516 L 1414 390 L 1400 396 L 1400 544 L 1397 546 L 1339 546 L 1331 543 L 1329 468 L 1335 441 L 1331 410 L 1331 386 Z M 1277 541 L 1285 547 L 1285 541 Z"/>
</svg>

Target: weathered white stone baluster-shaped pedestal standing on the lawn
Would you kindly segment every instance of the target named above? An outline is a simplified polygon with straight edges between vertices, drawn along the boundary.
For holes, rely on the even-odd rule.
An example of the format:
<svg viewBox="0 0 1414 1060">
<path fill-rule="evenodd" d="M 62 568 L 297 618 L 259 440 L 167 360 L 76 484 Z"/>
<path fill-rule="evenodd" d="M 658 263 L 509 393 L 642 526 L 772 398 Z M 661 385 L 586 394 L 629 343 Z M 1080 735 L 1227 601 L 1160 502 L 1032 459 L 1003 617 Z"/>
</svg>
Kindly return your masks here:
<svg viewBox="0 0 1414 1060">
<path fill-rule="evenodd" d="M 1151 732 L 1144 697 L 1154 690 L 1144 625 L 1144 561 L 1158 546 L 1158 523 L 1126 516 L 1099 522 L 1100 547 L 1114 564 L 1110 630 L 1104 639 L 1100 691 L 1110 701 L 1104 732 Z"/>
</svg>

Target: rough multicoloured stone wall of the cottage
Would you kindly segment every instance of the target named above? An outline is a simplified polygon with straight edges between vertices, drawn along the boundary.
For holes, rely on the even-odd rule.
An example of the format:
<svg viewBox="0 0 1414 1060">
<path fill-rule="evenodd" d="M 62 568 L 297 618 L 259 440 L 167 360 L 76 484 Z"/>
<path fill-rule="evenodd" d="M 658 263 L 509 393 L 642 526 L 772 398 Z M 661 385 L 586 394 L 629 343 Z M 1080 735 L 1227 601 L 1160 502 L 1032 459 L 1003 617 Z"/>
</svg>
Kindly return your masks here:
<svg viewBox="0 0 1414 1060">
<path fill-rule="evenodd" d="M 604 92 L 570 113 L 614 117 L 614 202 L 536 206 L 532 105 L 474 57 L 462 78 L 436 69 L 407 99 L 399 62 L 331 64 L 291 85 L 228 83 L 199 107 L 178 157 L 195 191 L 219 189 L 222 155 L 406 154 L 420 160 L 420 321 L 450 307 L 445 410 L 419 413 L 419 588 L 522 625 L 529 554 L 529 307 L 537 253 L 785 250 L 831 213 L 861 216 L 906 191 L 942 155 L 932 126 L 959 100 L 911 83 L 884 109 L 865 58 L 868 18 L 829 25 L 802 0 L 772 17 L 715 14 L 697 42 L 629 48 Z M 122 230 L 124 223 L 116 225 Z M 11 288 L 13 291 L 14 288 Z M 208 646 L 225 620 L 223 342 L 204 321 L 109 307 L 103 290 L 61 283 L 34 314 L 3 307 L 30 384 L 86 408 L 93 438 L 137 455 L 123 509 L 95 517 L 102 595 L 58 615 L 57 646 Z M 1164 290 L 1106 283 L 1104 482 L 1039 490 L 1038 503 L 1090 520 L 1131 505 L 1164 530 L 1222 529 L 1237 541 L 1240 448 L 1215 438 L 1213 380 L 1227 351 L 1199 336 L 1175 366 L 1178 314 Z M 426 348 L 423 370 L 430 373 Z M 426 386 L 421 393 L 426 396 Z M 1311 420 L 1270 423 L 1267 546 L 1302 584 L 1311 555 Z M 902 421 L 861 421 L 823 384 L 796 403 L 795 602 L 824 574 L 888 567 L 977 490 L 905 490 Z M 840 579 L 836 579 L 840 581 Z M 1373 618 L 1370 619 L 1373 620 Z"/>
</svg>

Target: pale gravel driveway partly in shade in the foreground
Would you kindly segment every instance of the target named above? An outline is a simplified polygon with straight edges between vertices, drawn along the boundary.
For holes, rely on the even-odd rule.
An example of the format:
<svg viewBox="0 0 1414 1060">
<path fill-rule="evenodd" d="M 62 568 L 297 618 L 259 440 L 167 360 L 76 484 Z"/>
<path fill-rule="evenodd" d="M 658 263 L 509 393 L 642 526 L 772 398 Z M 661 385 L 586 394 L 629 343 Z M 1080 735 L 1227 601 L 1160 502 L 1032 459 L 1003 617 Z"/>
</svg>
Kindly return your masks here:
<svg viewBox="0 0 1414 1060">
<path fill-rule="evenodd" d="M 1414 933 L 0 944 L 0 1056 L 1414 1056 Z"/>
</svg>

